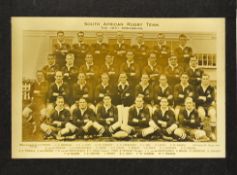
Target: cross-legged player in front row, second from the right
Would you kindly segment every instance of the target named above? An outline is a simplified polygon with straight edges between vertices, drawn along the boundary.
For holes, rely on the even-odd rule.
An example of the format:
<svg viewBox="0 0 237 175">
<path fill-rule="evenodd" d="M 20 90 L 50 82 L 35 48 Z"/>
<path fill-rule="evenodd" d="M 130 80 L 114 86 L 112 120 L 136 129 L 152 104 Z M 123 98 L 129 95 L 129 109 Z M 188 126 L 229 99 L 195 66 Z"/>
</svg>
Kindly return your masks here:
<svg viewBox="0 0 237 175">
<path fill-rule="evenodd" d="M 170 141 L 177 138 L 175 130 L 178 126 L 175 121 L 174 111 L 169 108 L 167 98 L 161 98 L 160 108 L 155 110 L 149 125 L 149 128 L 143 130 L 144 135 L 151 134 L 155 138 L 162 137 L 163 139 Z"/>
</svg>

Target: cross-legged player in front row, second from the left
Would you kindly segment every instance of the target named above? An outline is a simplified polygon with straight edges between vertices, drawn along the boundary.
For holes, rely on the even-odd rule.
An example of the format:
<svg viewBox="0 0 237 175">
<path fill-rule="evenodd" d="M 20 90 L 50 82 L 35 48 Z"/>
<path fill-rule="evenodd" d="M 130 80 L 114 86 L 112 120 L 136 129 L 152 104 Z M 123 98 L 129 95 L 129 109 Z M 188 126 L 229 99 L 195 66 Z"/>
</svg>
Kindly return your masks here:
<svg viewBox="0 0 237 175">
<path fill-rule="evenodd" d="M 77 107 L 72 111 L 71 131 L 77 132 L 79 137 L 92 138 L 102 136 L 105 129 L 96 121 L 95 112 L 88 107 L 86 99 L 80 98 Z"/>
</svg>

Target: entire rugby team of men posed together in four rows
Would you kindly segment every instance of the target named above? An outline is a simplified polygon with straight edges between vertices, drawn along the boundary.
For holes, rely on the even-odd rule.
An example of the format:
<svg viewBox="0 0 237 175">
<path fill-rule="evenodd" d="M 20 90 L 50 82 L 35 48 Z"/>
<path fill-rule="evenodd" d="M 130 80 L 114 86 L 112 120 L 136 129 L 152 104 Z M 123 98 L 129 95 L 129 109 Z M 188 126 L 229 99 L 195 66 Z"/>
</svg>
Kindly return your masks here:
<svg viewBox="0 0 237 175">
<path fill-rule="evenodd" d="M 32 114 L 40 111 L 46 138 L 216 140 L 215 88 L 186 46 L 186 35 L 174 52 L 164 34 L 153 49 L 141 33 L 130 47 L 120 32 L 113 46 L 103 43 L 101 32 L 91 46 L 83 32 L 77 36 L 70 47 L 57 33 L 54 53 L 31 86 L 32 103 L 23 110 L 34 125 Z"/>
</svg>

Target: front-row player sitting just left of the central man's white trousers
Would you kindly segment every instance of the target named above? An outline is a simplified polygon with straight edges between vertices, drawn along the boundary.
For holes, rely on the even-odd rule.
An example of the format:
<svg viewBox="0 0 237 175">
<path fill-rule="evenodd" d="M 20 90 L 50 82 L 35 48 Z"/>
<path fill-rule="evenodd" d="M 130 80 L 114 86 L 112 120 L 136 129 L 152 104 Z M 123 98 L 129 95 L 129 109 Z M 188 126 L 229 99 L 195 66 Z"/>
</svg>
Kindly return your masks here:
<svg viewBox="0 0 237 175">
<path fill-rule="evenodd" d="M 121 122 L 118 121 L 118 109 L 112 105 L 111 97 L 108 95 L 104 96 L 103 104 L 98 106 L 97 121 L 105 127 L 103 136 L 111 136 L 121 127 Z"/>
</svg>

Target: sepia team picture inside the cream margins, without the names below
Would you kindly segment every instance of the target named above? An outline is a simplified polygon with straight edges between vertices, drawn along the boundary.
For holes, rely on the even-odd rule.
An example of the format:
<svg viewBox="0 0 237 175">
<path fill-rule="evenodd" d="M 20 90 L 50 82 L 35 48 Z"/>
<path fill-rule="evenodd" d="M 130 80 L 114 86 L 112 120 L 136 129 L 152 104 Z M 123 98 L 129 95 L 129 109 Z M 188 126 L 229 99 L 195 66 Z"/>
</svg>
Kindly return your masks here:
<svg viewBox="0 0 237 175">
<path fill-rule="evenodd" d="M 22 142 L 218 142 L 215 32 L 84 25 L 22 31 Z"/>
</svg>

